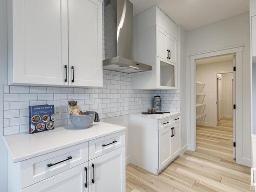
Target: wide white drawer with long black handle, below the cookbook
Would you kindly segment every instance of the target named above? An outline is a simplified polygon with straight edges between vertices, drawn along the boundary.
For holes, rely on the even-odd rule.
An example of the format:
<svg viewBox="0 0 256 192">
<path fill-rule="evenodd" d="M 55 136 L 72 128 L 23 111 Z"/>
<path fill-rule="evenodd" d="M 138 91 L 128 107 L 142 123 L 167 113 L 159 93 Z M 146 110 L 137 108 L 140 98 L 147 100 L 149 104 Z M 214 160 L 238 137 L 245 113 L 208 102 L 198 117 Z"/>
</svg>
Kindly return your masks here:
<svg viewBox="0 0 256 192">
<path fill-rule="evenodd" d="M 20 162 L 23 189 L 88 161 L 88 142 Z"/>
</svg>

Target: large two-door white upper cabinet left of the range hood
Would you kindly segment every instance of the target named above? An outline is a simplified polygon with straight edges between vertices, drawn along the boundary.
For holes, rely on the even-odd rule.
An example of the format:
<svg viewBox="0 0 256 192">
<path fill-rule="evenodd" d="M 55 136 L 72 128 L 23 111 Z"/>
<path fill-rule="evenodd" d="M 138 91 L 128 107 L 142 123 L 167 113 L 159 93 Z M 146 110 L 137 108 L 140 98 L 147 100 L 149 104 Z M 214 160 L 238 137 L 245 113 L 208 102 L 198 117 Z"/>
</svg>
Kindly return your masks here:
<svg viewBox="0 0 256 192">
<path fill-rule="evenodd" d="M 8 1 L 9 84 L 102 86 L 101 12 L 98 0 Z"/>
</svg>

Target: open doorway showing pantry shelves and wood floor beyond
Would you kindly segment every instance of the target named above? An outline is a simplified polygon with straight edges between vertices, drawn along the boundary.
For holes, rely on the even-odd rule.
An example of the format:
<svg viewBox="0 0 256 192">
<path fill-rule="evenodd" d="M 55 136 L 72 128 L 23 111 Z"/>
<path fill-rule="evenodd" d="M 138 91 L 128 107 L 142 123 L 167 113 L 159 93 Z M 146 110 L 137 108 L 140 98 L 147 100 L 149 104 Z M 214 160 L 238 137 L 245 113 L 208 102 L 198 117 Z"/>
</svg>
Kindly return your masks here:
<svg viewBox="0 0 256 192">
<path fill-rule="evenodd" d="M 236 158 L 233 117 L 234 55 L 196 60 L 197 152 L 234 161 Z"/>
</svg>

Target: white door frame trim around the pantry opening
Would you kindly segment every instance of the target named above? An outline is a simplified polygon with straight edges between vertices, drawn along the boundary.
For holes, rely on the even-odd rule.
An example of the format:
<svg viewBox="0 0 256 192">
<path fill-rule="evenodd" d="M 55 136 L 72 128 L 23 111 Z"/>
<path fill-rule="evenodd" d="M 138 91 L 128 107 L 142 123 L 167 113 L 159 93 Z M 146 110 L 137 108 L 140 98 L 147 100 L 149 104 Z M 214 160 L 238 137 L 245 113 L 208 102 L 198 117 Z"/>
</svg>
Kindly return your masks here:
<svg viewBox="0 0 256 192">
<path fill-rule="evenodd" d="M 236 55 L 236 161 L 242 164 L 242 52 L 244 46 L 231 47 L 190 55 L 190 129 L 188 150 L 196 151 L 196 60 L 207 57 Z M 189 118 L 189 117 L 188 117 Z"/>
</svg>

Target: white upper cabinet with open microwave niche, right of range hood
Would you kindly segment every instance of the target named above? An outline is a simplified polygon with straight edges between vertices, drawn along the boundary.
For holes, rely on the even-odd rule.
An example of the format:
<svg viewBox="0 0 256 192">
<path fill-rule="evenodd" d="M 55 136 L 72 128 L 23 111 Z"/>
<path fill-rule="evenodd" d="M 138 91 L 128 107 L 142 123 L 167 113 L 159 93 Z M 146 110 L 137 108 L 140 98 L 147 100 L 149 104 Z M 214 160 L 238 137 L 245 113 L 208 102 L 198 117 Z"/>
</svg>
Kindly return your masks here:
<svg viewBox="0 0 256 192">
<path fill-rule="evenodd" d="M 132 89 L 177 89 L 177 25 L 158 7 L 134 17 L 134 60 L 152 71 L 132 74 Z"/>
</svg>

